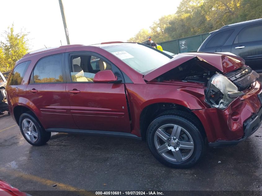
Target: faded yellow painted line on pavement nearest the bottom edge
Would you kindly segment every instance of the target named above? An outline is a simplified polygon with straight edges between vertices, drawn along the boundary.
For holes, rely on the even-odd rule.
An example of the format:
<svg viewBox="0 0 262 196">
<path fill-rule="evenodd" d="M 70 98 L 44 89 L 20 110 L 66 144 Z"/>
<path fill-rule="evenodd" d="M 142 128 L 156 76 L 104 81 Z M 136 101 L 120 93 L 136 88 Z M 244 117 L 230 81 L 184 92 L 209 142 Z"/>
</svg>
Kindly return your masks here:
<svg viewBox="0 0 262 196">
<path fill-rule="evenodd" d="M 5 169 L 5 168 L 0 168 L 0 171 L 7 173 L 8 175 L 16 176 L 16 177 L 19 177 L 19 178 L 22 178 L 22 179 L 28 180 L 28 181 L 35 181 L 35 182 L 38 182 L 40 184 L 47 185 L 47 186 L 57 185 L 56 187 L 59 188 L 60 190 L 75 191 L 75 192 L 78 192 L 79 195 L 83 195 L 83 196 L 95 195 L 94 193 L 92 193 L 90 191 L 86 191 L 84 189 L 78 189 L 78 188 L 75 188 L 75 187 L 70 186 L 70 185 L 66 185 L 66 184 L 63 184 L 63 183 L 60 183 L 60 182 L 56 182 L 56 181 L 51 181 L 51 180 L 41 178 L 41 177 L 38 177 L 38 176 L 34 176 L 34 175 L 31 175 L 31 174 L 26 174 L 24 172 L 20 172 L 20 171 L 17 171 L 17 170 L 13 170 L 13 169 L 9 170 L 9 169 Z"/>
</svg>

